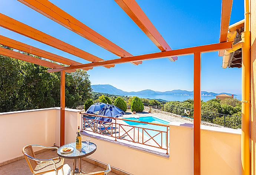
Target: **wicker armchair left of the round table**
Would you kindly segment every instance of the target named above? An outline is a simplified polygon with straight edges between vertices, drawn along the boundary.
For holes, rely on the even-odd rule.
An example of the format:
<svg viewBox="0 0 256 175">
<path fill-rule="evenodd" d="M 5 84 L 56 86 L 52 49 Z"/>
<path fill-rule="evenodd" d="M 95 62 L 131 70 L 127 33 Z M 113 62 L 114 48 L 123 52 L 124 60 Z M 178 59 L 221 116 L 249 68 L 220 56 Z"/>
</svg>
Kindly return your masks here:
<svg viewBox="0 0 256 175">
<path fill-rule="evenodd" d="M 63 172 L 63 165 L 64 159 L 63 158 L 53 158 L 53 159 L 36 159 L 35 152 L 33 151 L 32 147 L 41 147 L 46 149 L 58 149 L 57 147 L 48 147 L 48 146 L 41 146 L 41 145 L 27 145 L 24 146 L 22 149 L 22 153 L 29 165 L 30 171 L 33 175 L 45 174 L 47 172 L 55 171 L 55 174 L 58 175 L 58 170 L 62 170 Z"/>
</svg>

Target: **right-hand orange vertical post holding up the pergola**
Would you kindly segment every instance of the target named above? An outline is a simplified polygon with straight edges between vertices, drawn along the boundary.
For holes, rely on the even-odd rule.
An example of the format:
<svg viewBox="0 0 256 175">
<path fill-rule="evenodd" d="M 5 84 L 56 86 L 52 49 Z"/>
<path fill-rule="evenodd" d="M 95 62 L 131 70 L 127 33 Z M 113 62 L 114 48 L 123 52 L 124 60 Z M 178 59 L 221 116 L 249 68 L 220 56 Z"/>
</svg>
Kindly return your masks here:
<svg viewBox="0 0 256 175">
<path fill-rule="evenodd" d="M 194 53 L 194 175 L 201 174 L 201 53 Z"/>
</svg>

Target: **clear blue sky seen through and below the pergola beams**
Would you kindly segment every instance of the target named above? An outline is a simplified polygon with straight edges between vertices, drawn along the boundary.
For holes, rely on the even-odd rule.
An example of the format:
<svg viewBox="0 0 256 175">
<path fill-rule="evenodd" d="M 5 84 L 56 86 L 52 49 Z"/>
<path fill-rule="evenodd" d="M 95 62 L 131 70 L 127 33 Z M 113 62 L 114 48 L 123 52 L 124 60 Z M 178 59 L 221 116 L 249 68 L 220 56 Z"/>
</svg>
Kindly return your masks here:
<svg viewBox="0 0 256 175">
<path fill-rule="evenodd" d="M 124 48 L 132 55 L 160 52 L 140 28 L 114 0 L 50 0 L 96 32 Z M 172 49 L 219 42 L 221 0 L 178 1 L 137 0 Z M 30 9 L 16 0 L 1 0 L 0 13 L 50 34 L 93 55 L 109 60 L 117 56 L 102 49 Z M 244 18 L 243 1 L 233 0 L 230 24 Z M 30 44 L 46 51 L 82 62 L 86 60 L 62 52 L 43 43 L 0 27 L 6 37 Z M 241 94 L 241 69 L 221 67 L 222 57 L 217 52 L 202 54 L 201 89 L 211 92 Z M 92 85 L 110 84 L 125 91 L 152 89 L 193 90 L 193 56 L 179 56 L 175 62 L 168 59 L 131 63 L 114 68 L 95 67 L 88 71 Z"/>
</svg>

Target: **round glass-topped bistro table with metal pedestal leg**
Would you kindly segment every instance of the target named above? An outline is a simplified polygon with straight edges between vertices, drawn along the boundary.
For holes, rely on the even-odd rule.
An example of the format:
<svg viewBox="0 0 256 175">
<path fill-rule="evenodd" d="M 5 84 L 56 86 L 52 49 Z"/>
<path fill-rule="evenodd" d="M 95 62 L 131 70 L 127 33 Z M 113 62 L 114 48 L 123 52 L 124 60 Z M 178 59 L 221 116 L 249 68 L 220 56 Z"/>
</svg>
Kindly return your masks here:
<svg viewBox="0 0 256 175">
<path fill-rule="evenodd" d="M 64 147 L 72 147 L 74 150 L 72 152 L 69 153 L 61 153 L 60 150 L 62 150 L 62 148 Z M 64 159 L 73 159 L 73 172 L 74 174 L 79 174 L 82 172 L 82 158 L 91 155 L 92 153 L 94 153 L 97 149 L 97 146 L 92 143 L 89 142 L 89 146 L 87 146 L 86 142 L 82 142 L 82 148 L 76 148 L 76 143 L 68 143 L 66 145 L 61 146 L 58 151 L 57 154 L 59 157 L 64 158 Z M 76 168 L 76 160 L 78 159 L 79 164 L 78 167 Z"/>
</svg>

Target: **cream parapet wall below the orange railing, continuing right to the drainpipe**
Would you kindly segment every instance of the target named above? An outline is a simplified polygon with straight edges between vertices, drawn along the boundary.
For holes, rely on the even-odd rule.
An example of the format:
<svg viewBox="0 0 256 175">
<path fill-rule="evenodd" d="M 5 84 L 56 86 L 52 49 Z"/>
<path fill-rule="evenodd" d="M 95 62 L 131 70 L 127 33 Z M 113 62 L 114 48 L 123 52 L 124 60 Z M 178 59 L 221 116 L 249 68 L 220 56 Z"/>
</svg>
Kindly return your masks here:
<svg viewBox="0 0 256 175">
<path fill-rule="evenodd" d="M 240 175 L 239 130 L 201 126 L 202 175 Z M 170 158 L 145 153 L 128 146 L 91 138 L 97 151 L 91 158 L 134 175 L 192 175 L 193 125 L 172 122 Z"/>
</svg>

